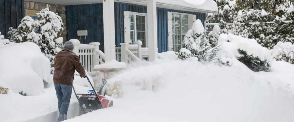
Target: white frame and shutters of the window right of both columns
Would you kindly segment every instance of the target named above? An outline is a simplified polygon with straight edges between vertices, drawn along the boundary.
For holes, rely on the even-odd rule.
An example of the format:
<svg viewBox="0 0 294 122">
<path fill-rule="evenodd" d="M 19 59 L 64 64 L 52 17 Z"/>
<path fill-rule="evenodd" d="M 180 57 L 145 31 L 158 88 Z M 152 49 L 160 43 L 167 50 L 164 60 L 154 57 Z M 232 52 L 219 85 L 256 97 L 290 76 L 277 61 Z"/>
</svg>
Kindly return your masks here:
<svg viewBox="0 0 294 122">
<path fill-rule="evenodd" d="M 174 49 L 174 41 L 173 40 L 173 33 L 172 33 L 172 14 L 179 14 L 179 15 L 188 15 L 188 30 L 190 30 L 193 26 L 193 23 L 196 21 L 196 15 L 193 14 L 187 14 L 187 13 L 178 13 L 178 12 L 168 12 L 168 50 L 175 51 Z M 182 21 L 181 21 L 182 25 Z M 182 27 L 181 27 L 182 30 Z M 181 36 L 182 38 L 182 36 Z M 183 46 L 183 40 L 181 41 L 181 44 Z"/>
</svg>

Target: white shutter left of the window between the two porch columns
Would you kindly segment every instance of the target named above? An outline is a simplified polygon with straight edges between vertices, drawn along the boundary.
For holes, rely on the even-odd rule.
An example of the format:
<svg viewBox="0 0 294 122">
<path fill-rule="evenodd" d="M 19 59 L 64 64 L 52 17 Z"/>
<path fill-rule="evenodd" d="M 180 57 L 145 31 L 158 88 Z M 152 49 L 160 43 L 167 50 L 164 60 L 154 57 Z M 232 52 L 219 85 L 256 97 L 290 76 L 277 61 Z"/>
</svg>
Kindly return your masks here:
<svg viewBox="0 0 294 122">
<path fill-rule="evenodd" d="M 131 43 L 130 37 L 130 12 L 124 11 L 124 34 L 125 34 L 125 43 Z"/>
</svg>

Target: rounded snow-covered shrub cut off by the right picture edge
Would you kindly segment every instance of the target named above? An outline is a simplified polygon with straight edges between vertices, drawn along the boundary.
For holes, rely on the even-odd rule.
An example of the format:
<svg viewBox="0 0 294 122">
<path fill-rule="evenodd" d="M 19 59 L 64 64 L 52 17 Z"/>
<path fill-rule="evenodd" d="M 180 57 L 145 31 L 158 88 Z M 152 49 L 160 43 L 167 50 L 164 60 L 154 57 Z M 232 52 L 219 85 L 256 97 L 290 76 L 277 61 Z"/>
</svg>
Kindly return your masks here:
<svg viewBox="0 0 294 122">
<path fill-rule="evenodd" d="M 294 44 L 279 41 L 271 50 L 271 54 L 277 61 L 286 61 L 294 64 Z"/>
</svg>

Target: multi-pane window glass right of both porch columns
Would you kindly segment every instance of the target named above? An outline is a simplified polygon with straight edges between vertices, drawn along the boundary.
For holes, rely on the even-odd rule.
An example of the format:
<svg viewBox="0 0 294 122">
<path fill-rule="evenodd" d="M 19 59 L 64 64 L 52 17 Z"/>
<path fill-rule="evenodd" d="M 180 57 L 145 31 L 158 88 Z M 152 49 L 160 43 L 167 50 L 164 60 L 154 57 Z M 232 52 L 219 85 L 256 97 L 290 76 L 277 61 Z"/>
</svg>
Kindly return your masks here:
<svg viewBox="0 0 294 122">
<path fill-rule="evenodd" d="M 188 22 L 188 15 L 172 14 L 172 41 L 175 52 L 179 52 L 183 48 L 183 39 L 189 30 Z"/>
</svg>

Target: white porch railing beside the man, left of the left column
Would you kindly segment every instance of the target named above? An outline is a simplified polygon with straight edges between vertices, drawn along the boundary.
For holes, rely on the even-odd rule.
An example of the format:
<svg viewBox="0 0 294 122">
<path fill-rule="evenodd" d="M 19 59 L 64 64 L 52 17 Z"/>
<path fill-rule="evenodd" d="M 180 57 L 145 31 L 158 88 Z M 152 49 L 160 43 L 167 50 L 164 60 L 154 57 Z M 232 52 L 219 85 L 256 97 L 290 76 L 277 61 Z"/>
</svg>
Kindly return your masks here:
<svg viewBox="0 0 294 122">
<path fill-rule="evenodd" d="M 89 73 L 94 72 L 94 66 L 98 64 L 103 64 L 105 61 L 104 53 L 99 50 L 99 42 L 92 42 L 89 45 L 80 44 L 77 39 L 71 39 L 74 43 L 74 53 L 80 57 L 80 61 L 85 70 Z"/>
</svg>

